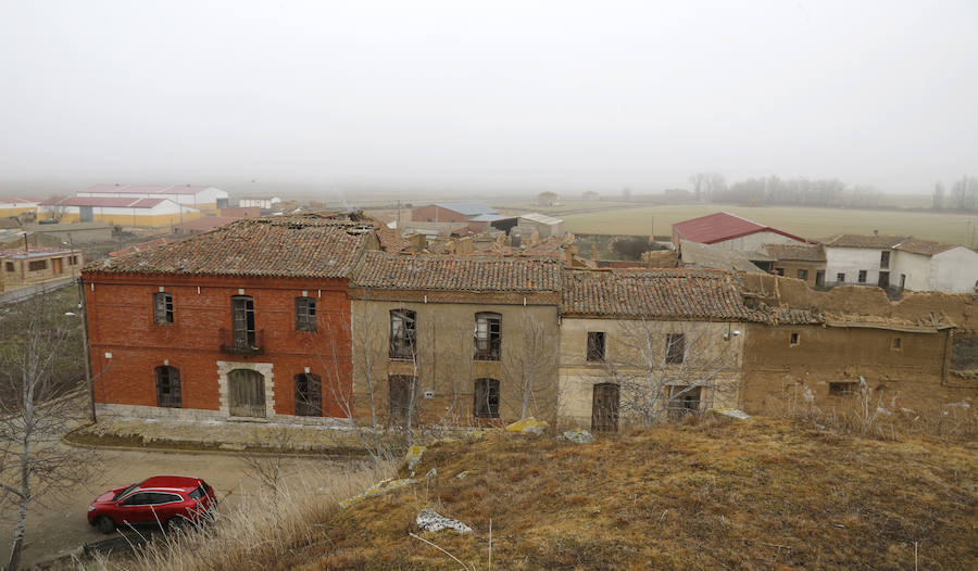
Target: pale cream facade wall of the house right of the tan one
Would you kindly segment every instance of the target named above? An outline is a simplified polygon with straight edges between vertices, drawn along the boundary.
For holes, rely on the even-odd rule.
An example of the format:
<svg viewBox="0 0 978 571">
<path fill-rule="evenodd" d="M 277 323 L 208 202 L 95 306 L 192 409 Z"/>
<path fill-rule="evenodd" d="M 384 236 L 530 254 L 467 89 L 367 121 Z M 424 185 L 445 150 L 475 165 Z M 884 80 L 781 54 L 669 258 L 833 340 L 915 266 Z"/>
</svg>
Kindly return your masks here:
<svg viewBox="0 0 978 571">
<path fill-rule="evenodd" d="M 605 361 L 587 360 L 588 332 L 605 333 Z M 740 335 L 727 335 L 740 331 Z M 593 386 L 615 383 L 620 390 L 620 423 L 639 423 L 650 371 L 666 384 L 704 383 L 701 409 L 734 407 L 739 402 L 741 356 L 745 326 L 740 322 L 647 321 L 564 317 L 560 346 L 560 419 L 562 423 L 591 426 Z M 666 334 L 685 333 L 687 360 L 664 365 Z M 639 346 L 649 343 L 650 361 Z M 661 405 L 659 405 L 661 406 Z"/>
</svg>

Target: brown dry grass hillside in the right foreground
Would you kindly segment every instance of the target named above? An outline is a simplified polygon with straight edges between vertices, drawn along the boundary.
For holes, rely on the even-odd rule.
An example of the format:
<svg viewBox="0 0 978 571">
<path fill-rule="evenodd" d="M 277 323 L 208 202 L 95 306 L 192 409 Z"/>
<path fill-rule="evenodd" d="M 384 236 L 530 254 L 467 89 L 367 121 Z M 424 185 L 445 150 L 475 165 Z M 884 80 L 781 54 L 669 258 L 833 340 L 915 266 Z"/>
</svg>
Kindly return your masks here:
<svg viewBox="0 0 978 571">
<path fill-rule="evenodd" d="M 705 420 L 588 445 L 500 433 L 429 448 L 419 485 L 336 516 L 305 569 L 978 569 L 974 442 Z M 406 468 L 401 477 L 406 477 Z M 468 471 L 464 479 L 455 475 Z"/>
</svg>

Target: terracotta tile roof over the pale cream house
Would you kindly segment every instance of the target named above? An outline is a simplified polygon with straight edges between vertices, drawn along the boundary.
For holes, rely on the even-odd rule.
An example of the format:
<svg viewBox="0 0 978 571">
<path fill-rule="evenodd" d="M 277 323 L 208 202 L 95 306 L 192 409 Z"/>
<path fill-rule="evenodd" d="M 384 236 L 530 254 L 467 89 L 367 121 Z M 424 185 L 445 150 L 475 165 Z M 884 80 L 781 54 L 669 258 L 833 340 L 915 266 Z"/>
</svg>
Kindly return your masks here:
<svg viewBox="0 0 978 571">
<path fill-rule="evenodd" d="M 565 270 L 565 315 L 756 320 L 730 274 L 689 269 Z"/>
</svg>

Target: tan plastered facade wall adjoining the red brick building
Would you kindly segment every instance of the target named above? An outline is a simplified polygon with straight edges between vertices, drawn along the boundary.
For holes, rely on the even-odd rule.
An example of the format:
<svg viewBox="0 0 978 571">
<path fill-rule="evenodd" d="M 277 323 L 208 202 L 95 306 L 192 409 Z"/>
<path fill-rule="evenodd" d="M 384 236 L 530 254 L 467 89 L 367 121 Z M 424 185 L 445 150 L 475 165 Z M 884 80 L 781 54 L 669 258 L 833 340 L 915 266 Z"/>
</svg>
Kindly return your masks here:
<svg viewBox="0 0 978 571">
<path fill-rule="evenodd" d="M 428 303 L 424 302 L 424 294 L 399 301 L 397 292 L 389 293 L 388 297 L 394 297 L 390 300 L 353 300 L 353 390 L 358 419 L 369 420 L 368 379 L 373 379 L 376 410 L 387 418 L 388 378 L 409 375 L 417 378 L 417 409 L 424 423 L 442 419 L 460 424 L 476 422 L 474 383 L 480 378 L 500 381 L 500 421 L 513 421 L 522 416 L 522 371 L 528 368 L 529 378 L 534 379 L 528 415 L 552 420 L 556 411 L 554 356 L 560 333 L 555 300 L 550 305 L 535 305 L 540 300 L 530 297 L 523 306 L 513 303 L 518 297 L 499 303 L 504 300 L 493 295 L 442 292 L 448 297 L 439 302 L 436 292 L 431 293 Z M 389 358 L 391 309 L 416 313 L 417 348 L 413 360 Z M 502 316 L 499 361 L 473 360 L 475 314 L 479 312 Z M 424 398 L 426 391 L 434 398 Z"/>
</svg>

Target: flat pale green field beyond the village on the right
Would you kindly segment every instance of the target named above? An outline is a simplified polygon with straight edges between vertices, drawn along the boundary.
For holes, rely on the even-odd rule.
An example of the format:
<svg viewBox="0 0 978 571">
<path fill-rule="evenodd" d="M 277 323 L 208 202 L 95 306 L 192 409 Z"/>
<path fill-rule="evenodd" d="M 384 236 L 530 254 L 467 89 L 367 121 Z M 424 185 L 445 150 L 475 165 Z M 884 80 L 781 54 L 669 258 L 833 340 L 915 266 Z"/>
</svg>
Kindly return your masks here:
<svg viewBox="0 0 978 571">
<path fill-rule="evenodd" d="M 729 212 L 804 237 L 827 238 L 839 233 L 912 234 L 926 240 L 978 245 L 978 213 L 933 214 L 902 211 L 857 211 L 790 206 L 732 206 L 726 204 L 673 204 L 639 206 L 564 216 L 567 231 L 576 233 L 667 236 L 672 225 L 714 212 Z M 971 243 L 975 240 L 975 243 Z"/>
</svg>

